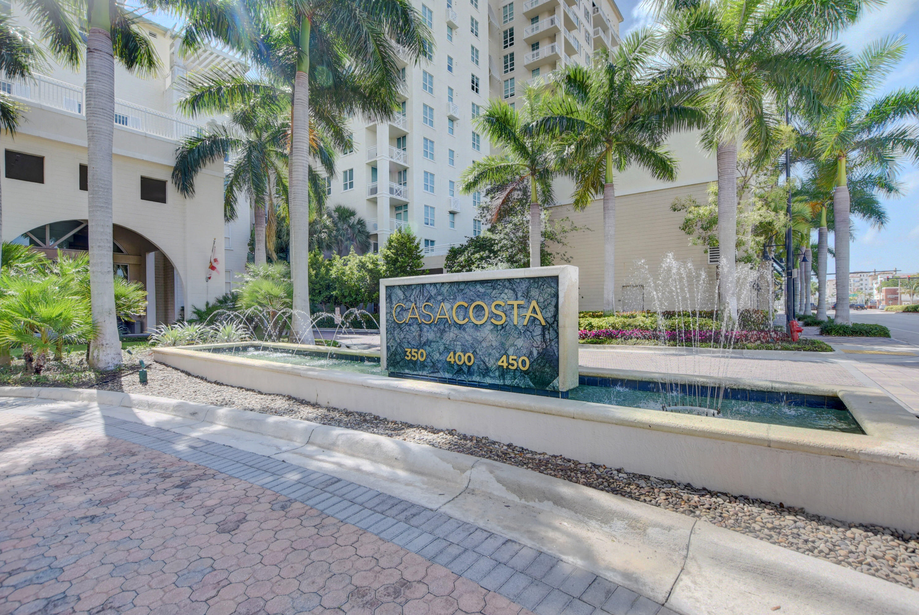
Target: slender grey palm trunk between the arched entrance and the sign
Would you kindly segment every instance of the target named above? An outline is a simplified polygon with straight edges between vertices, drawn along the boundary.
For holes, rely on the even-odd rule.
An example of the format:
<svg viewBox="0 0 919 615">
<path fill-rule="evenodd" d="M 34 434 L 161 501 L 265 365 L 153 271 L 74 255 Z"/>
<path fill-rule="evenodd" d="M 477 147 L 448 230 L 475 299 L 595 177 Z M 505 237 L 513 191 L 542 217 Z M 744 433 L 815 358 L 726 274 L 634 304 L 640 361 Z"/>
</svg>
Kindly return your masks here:
<svg viewBox="0 0 919 615">
<path fill-rule="evenodd" d="M 290 111 L 289 221 L 290 281 L 293 282 L 292 334 L 313 344 L 310 319 L 310 20 L 302 17 L 300 57 Z"/>
</svg>

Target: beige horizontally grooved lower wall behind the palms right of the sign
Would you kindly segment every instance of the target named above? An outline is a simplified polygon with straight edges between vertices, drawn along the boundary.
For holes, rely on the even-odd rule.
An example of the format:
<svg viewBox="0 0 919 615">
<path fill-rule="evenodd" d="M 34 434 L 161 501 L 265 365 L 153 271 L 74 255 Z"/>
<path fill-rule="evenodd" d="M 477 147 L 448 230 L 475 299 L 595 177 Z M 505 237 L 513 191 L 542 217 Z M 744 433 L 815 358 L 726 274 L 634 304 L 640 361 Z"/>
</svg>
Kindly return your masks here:
<svg viewBox="0 0 919 615">
<path fill-rule="evenodd" d="M 661 188 L 616 199 L 616 304 L 623 307 L 623 286 L 632 283 L 636 261 L 643 260 L 656 273 L 664 255 L 673 253 L 677 260 L 691 260 L 697 268 L 707 268 L 710 280 L 715 279 L 716 266 L 708 264 L 708 255 L 701 245 L 690 245 L 690 237 L 680 230 L 684 214 L 670 211 L 677 197 L 694 196 L 700 202 L 708 198 L 708 182 L 675 188 Z M 583 211 L 569 205 L 551 210 L 553 221 L 568 218 L 582 230 L 565 237 L 567 245 L 551 246 L 553 252 L 567 255 L 570 264 L 579 268 L 581 310 L 603 309 L 603 199 L 597 199 Z M 559 260 L 559 259 L 556 259 Z M 561 263 L 561 261 L 559 261 Z M 633 300 L 630 293 L 629 300 Z M 650 303 L 645 300 L 645 308 Z"/>
</svg>

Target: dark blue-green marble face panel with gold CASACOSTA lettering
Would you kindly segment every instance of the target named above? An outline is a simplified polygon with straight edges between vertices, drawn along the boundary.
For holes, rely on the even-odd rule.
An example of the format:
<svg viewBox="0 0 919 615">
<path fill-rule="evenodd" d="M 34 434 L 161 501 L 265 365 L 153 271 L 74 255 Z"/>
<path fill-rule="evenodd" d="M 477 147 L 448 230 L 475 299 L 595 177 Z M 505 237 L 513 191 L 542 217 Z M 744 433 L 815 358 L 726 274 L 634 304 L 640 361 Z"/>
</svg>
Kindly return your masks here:
<svg viewBox="0 0 919 615">
<path fill-rule="evenodd" d="M 390 372 L 559 389 L 559 276 L 401 284 L 385 293 Z"/>
</svg>

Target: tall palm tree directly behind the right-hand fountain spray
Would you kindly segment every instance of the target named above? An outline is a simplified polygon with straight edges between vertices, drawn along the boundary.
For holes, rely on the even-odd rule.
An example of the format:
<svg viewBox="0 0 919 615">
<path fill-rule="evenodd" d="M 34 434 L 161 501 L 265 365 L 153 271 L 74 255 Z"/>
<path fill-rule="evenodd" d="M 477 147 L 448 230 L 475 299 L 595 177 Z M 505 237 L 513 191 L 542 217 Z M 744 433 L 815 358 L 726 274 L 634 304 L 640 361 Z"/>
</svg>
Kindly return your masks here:
<svg viewBox="0 0 919 615">
<path fill-rule="evenodd" d="M 737 316 L 737 146 L 771 158 L 777 106 L 816 108 L 840 94 L 842 48 L 826 42 L 853 23 L 865 0 L 657 0 L 671 70 L 695 75 L 708 126 L 702 142 L 718 164 L 720 309 Z"/>
</svg>

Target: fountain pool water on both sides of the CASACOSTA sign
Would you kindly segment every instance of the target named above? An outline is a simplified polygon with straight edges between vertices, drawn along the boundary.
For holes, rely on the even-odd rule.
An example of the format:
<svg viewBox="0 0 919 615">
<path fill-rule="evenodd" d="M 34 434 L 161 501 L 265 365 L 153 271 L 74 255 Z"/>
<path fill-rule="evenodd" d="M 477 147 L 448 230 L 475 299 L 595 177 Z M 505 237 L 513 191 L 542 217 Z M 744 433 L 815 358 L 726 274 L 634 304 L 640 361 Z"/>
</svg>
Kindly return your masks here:
<svg viewBox="0 0 919 615">
<path fill-rule="evenodd" d="M 289 363 L 325 370 L 351 371 L 356 373 L 386 376 L 387 371 L 380 368 L 379 359 L 354 358 L 341 359 L 326 356 L 321 352 L 295 352 L 283 348 L 273 347 L 232 347 L 210 348 L 206 352 L 225 354 L 233 357 L 247 359 L 260 359 L 275 363 Z M 330 349 L 332 354 L 334 349 Z M 357 359 L 357 360 L 356 360 Z M 811 407 L 800 404 L 770 404 L 766 402 L 741 401 L 736 399 L 723 399 L 720 406 L 714 400 L 705 397 L 696 397 L 686 394 L 659 393 L 653 391 L 637 391 L 624 386 L 593 386 L 582 384 L 568 392 L 569 399 L 596 404 L 624 405 L 632 408 L 642 408 L 661 412 L 662 405 L 678 406 L 692 405 L 703 407 L 720 407 L 721 418 L 738 421 L 751 421 L 754 423 L 767 423 L 770 425 L 787 425 L 790 427 L 808 427 L 826 431 L 840 431 L 845 433 L 863 434 L 855 418 L 844 409 L 831 407 Z M 679 412 L 678 410 L 676 412 Z"/>
</svg>

